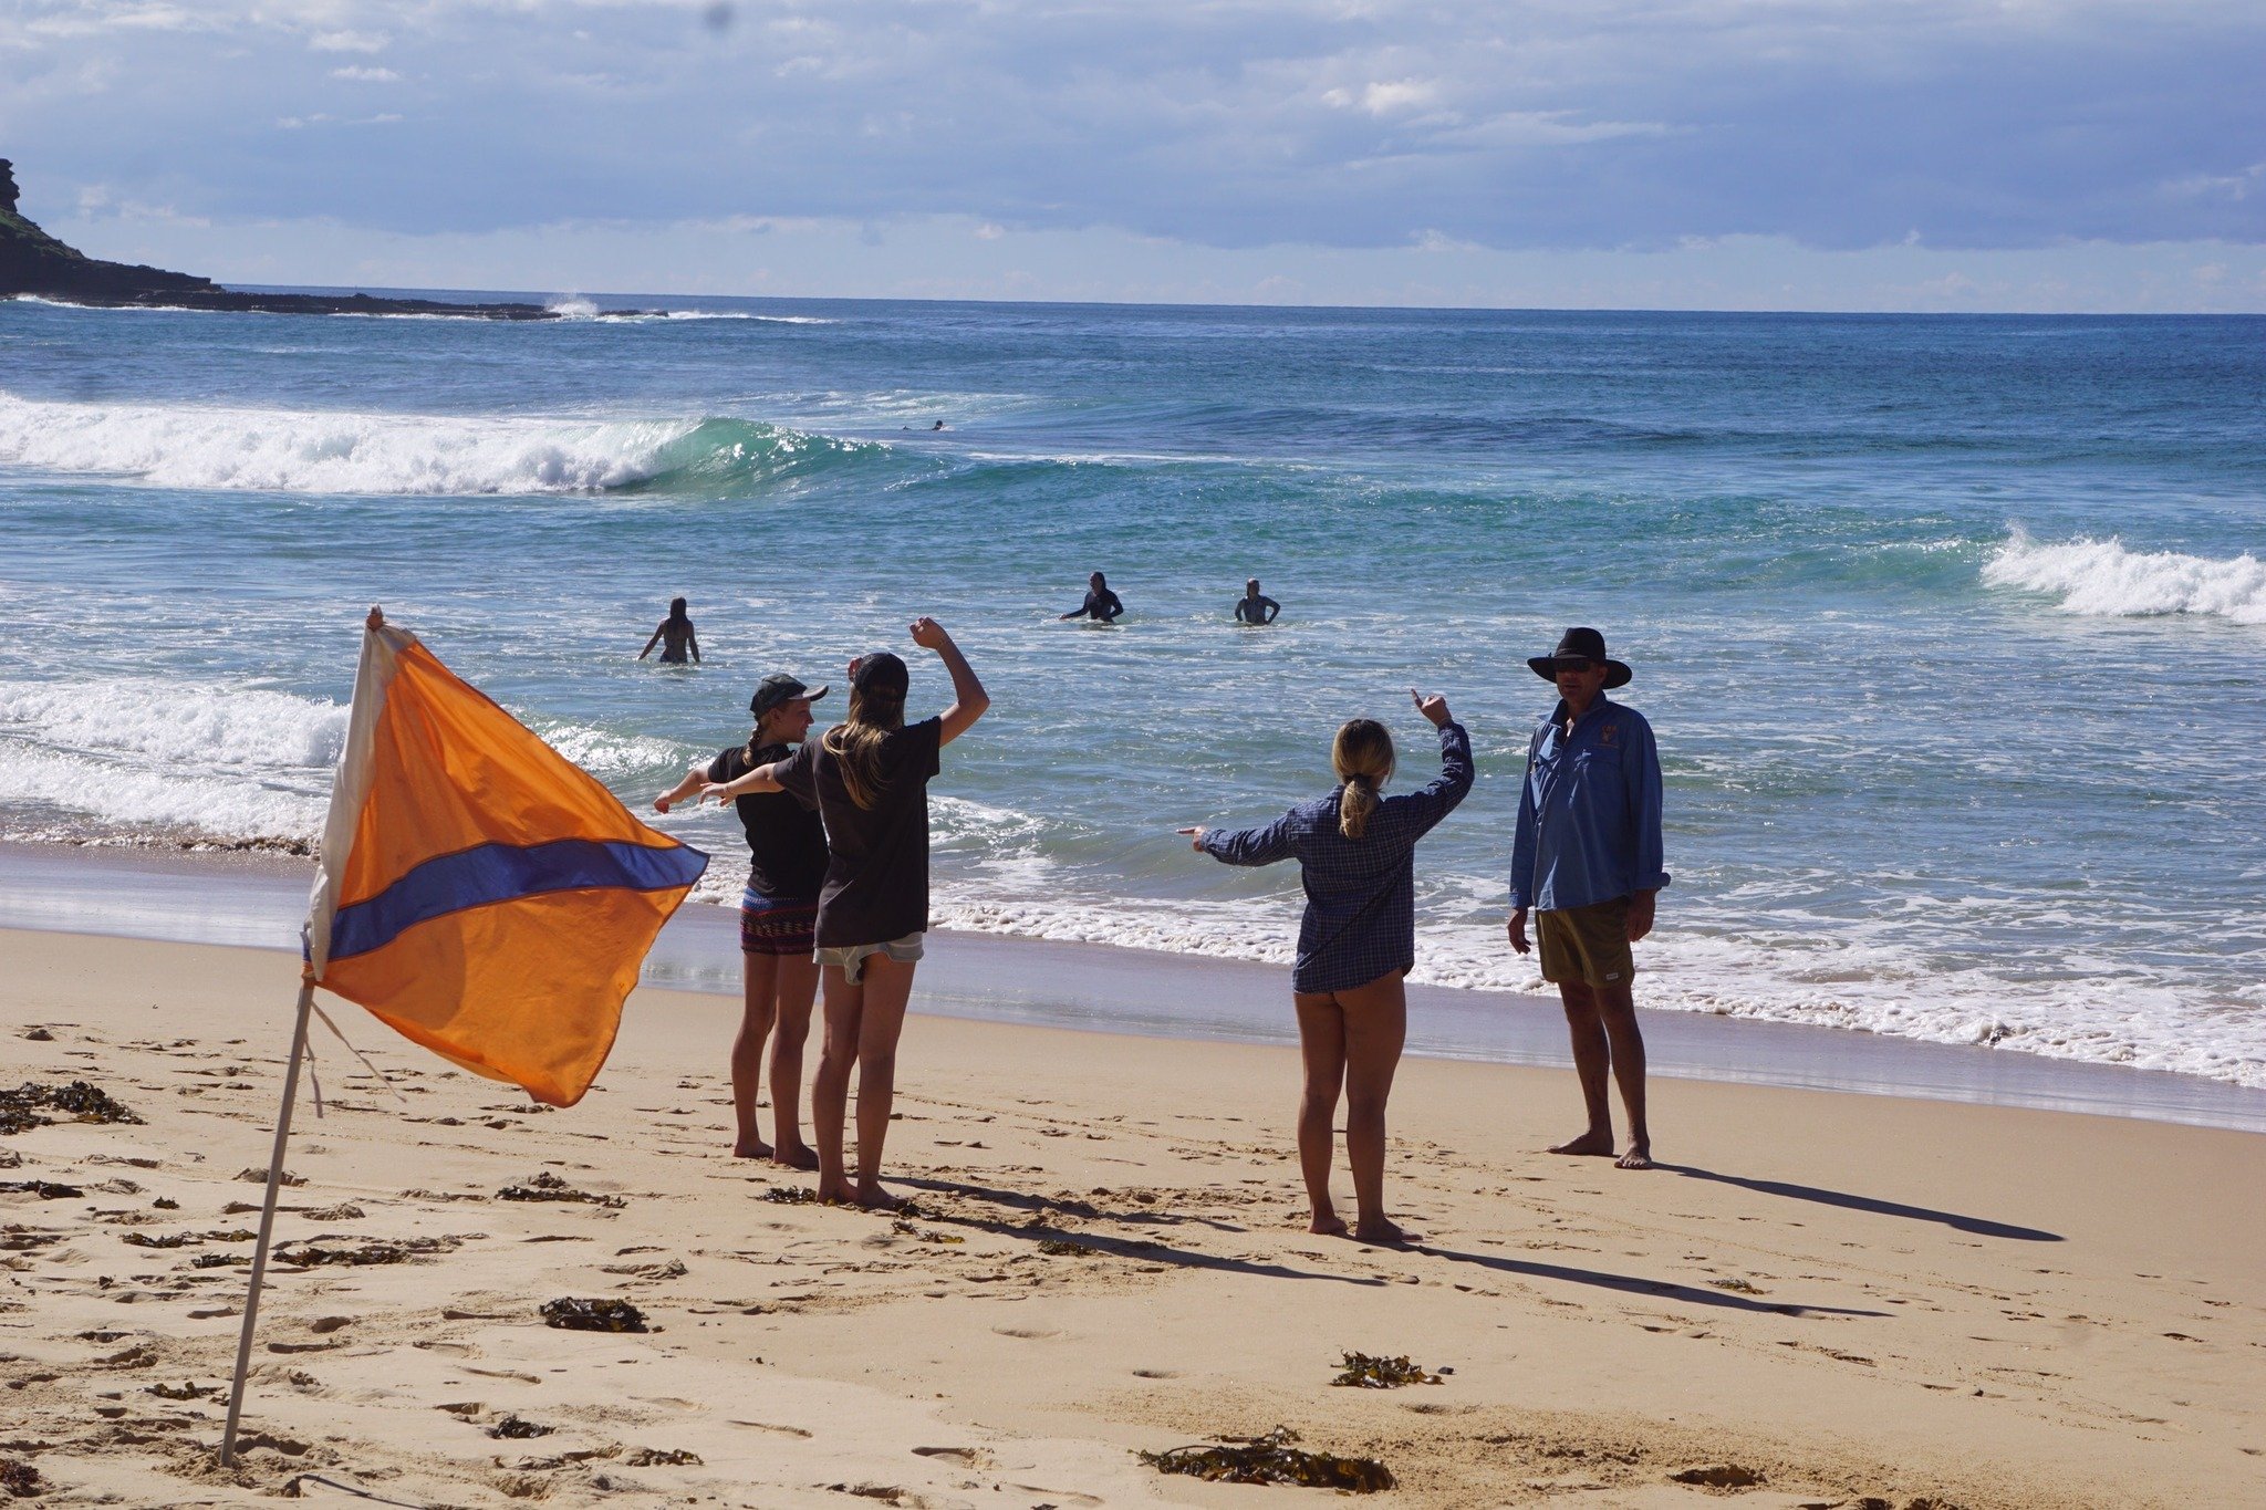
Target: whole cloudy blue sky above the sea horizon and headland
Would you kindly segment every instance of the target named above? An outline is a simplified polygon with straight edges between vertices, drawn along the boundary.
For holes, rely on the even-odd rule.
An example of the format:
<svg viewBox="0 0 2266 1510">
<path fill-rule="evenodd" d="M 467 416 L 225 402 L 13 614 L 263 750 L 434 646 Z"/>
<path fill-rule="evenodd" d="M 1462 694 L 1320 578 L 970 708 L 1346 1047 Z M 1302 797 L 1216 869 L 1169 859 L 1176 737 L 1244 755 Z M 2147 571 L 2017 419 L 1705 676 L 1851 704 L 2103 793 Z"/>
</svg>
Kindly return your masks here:
<svg viewBox="0 0 2266 1510">
<path fill-rule="evenodd" d="M 0 0 L 224 283 L 2266 312 L 2259 0 Z"/>
</svg>

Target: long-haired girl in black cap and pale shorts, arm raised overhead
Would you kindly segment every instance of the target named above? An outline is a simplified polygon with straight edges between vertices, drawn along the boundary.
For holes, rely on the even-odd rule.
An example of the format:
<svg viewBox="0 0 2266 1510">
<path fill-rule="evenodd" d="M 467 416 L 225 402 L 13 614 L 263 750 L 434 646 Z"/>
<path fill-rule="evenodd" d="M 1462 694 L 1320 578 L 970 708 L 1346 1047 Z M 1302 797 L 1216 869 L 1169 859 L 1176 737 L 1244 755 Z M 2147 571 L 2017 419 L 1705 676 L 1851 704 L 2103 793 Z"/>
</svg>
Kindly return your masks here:
<svg viewBox="0 0 2266 1510">
<path fill-rule="evenodd" d="M 897 1035 L 913 994 L 913 964 L 929 928 L 929 779 L 938 752 L 983 718 L 990 697 L 968 657 L 934 618 L 913 620 L 913 643 L 952 672 L 952 706 L 904 722 L 911 675 L 875 650 L 850 661 L 850 718 L 789 758 L 707 788 L 707 797 L 793 792 L 827 824 L 827 878 L 818 894 L 818 967 L 827 1032 L 811 1084 L 818 1200 L 897 1204 L 881 1189 L 881 1143 L 897 1087 Z M 850 1071 L 857 1069 L 857 1184 L 843 1164 Z"/>
</svg>

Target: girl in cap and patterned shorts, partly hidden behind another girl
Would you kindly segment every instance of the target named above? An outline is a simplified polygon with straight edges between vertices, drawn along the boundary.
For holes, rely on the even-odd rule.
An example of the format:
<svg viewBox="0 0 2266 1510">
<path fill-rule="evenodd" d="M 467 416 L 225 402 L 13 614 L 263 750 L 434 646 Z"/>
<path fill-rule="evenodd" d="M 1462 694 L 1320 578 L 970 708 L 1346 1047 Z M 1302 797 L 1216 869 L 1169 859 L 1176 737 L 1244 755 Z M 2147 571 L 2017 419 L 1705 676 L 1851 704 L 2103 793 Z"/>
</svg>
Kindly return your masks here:
<svg viewBox="0 0 2266 1510">
<path fill-rule="evenodd" d="M 811 731 L 816 693 L 786 672 L 773 672 L 755 688 L 748 711 L 755 733 L 746 745 L 696 761 L 684 779 L 653 799 L 655 810 L 732 781 L 768 761 L 784 761 Z M 773 1159 L 791 1168 L 818 1168 L 818 1155 L 802 1141 L 802 1044 L 811 1035 L 811 998 L 818 964 L 811 960 L 818 924 L 818 887 L 827 876 L 827 831 L 818 808 L 780 790 L 748 792 L 732 804 L 748 831 L 748 890 L 739 899 L 739 951 L 743 1010 L 732 1039 L 732 1114 L 741 1159 Z M 755 1116 L 755 1093 L 764 1071 L 764 1039 L 770 1039 L 770 1134 L 766 1148 Z"/>
</svg>

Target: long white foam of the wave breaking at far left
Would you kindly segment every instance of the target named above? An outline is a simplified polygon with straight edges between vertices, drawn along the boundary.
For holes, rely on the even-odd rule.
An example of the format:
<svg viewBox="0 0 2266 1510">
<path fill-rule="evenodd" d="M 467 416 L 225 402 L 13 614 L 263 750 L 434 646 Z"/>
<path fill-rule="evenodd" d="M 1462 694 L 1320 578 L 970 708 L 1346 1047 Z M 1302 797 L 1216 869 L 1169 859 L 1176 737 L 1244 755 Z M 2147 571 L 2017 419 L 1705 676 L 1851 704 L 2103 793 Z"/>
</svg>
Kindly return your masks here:
<svg viewBox="0 0 2266 1510">
<path fill-rule="evenodd" d="M 587 421 L 0 394 L 0 464 L 276 494 L 560 494 L 641 482 L 698 421 Z"/>
</svg>

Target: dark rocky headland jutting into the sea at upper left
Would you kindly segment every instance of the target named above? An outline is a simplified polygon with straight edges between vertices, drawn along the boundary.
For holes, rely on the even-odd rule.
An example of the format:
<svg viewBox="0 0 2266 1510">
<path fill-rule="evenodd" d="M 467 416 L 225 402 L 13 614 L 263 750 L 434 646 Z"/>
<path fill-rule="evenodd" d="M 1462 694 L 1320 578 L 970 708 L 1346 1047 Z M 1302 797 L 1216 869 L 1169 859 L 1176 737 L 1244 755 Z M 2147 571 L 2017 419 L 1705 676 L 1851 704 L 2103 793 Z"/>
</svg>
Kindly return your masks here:
<svg viewBox="0 0 2266 1510">
<path fill-rule="evenodd" d="M 247 315 L 455 315 L 560 319 L 539 303 L 446 303 L 376 294 L 245 294 L 163 267 L 104 263 L 68 247 L 16 208 L 16 165 L 0 158 L 0 299 L 23 294 L 95 308 L 229 310 Z"/>
</svg>

